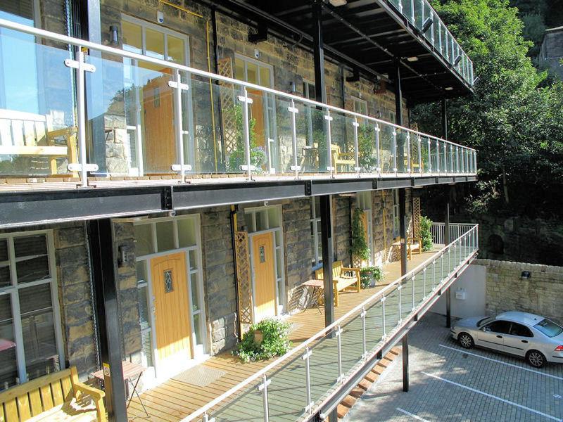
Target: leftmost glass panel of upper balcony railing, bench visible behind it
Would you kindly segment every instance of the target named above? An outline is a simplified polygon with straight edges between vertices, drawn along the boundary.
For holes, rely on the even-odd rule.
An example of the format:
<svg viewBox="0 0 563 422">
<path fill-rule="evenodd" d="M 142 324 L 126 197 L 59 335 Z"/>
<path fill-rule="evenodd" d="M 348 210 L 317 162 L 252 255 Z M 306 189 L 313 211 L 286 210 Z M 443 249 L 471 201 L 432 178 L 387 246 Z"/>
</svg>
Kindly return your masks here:
<svg viewBox="0 0 563 422">
<path fill-rule="evenodd" d="M 0 34 L 0 175 L 77 176 L 76 108 L 68 46 Z"/>
</svg>

